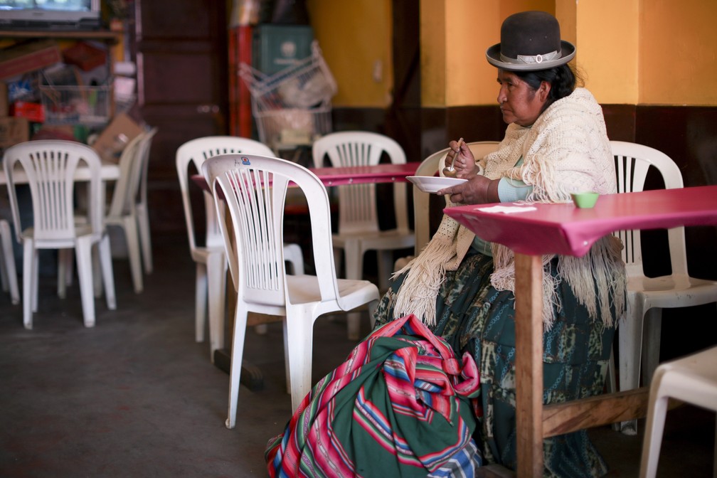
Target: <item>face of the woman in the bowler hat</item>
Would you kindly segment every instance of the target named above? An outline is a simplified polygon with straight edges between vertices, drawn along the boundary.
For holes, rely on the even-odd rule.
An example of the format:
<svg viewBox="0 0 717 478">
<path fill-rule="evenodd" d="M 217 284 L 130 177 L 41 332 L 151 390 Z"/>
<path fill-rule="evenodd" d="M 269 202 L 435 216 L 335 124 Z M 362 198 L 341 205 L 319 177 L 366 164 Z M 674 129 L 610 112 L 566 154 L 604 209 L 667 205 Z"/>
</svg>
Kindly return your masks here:
<svg viewBox="0 0 717 478">
<path fill-rule="evenodd" d="M 505 123 L 530 126 L 536 122 L 548 98 L 550 84 L 541 82 L 537 90 L 515 73 L 498 70 L 498 103 Z"/>
</svg>

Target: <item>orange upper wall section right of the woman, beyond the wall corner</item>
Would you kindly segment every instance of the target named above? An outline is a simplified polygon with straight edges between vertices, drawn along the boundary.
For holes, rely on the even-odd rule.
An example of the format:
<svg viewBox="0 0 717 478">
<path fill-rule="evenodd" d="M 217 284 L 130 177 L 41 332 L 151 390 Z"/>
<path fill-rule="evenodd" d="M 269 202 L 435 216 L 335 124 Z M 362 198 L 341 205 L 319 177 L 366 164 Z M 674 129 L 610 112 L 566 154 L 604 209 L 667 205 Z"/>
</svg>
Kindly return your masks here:
<svg viewBox="0 0 717 478">
<path fill-rule="evenodd" d="M 577 64 L 603 104 L 717 105 L 717 2 L 577 4 Z"/>
</svg>

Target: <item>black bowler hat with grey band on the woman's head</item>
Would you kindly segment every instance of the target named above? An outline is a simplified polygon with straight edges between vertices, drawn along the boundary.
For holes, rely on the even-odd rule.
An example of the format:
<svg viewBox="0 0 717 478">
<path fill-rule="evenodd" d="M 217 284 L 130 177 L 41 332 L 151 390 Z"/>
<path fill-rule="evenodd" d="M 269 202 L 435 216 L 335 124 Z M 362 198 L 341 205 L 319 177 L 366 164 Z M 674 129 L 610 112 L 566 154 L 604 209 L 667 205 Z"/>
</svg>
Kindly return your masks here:
<svg viewBox="0 0 717 478">
<path fill-rule="evenodd" d="M 574 44 L 560 39 L 560 24 L 546 11 L 508 16 L 500 27 L 500 43 L 485 51 L 488 63 L 513 71 L 548 70 L 574 56 Z"/>
</svg>

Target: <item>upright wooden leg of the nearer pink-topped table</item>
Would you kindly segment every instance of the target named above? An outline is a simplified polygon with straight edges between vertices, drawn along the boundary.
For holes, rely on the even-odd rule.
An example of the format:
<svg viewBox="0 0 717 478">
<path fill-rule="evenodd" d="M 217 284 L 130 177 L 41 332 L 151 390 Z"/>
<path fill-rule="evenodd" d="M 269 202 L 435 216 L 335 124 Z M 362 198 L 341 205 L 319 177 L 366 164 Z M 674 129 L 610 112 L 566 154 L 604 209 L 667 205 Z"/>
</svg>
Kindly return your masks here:
<svg viewBox="0 0 717 478">
<path fill-rule="evenodd" d="M 543 264 L 515 254 L 518 477 L 543 476 Z"/>
</svg>

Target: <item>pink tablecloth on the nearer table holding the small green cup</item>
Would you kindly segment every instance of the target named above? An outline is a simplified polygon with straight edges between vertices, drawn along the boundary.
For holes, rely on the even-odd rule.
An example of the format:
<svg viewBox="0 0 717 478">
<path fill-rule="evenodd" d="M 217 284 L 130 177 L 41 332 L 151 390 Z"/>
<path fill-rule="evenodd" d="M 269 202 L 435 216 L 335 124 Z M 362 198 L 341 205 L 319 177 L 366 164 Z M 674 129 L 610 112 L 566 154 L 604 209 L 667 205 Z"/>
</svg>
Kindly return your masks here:
<svg viewBox="0 0 717 478">
<path fill-rule="evenodd" d="M 485 211 L 491 206 L 525 211 Z M 482 239 L 521 254 L 582 256 L 597 239 L 613 231 L 717 224 L 717 186 L 608 194 L 600 196 L 592 209 L 578 209 L 572 203 L 503 203 L 444 211 Z"/>
</svg>

